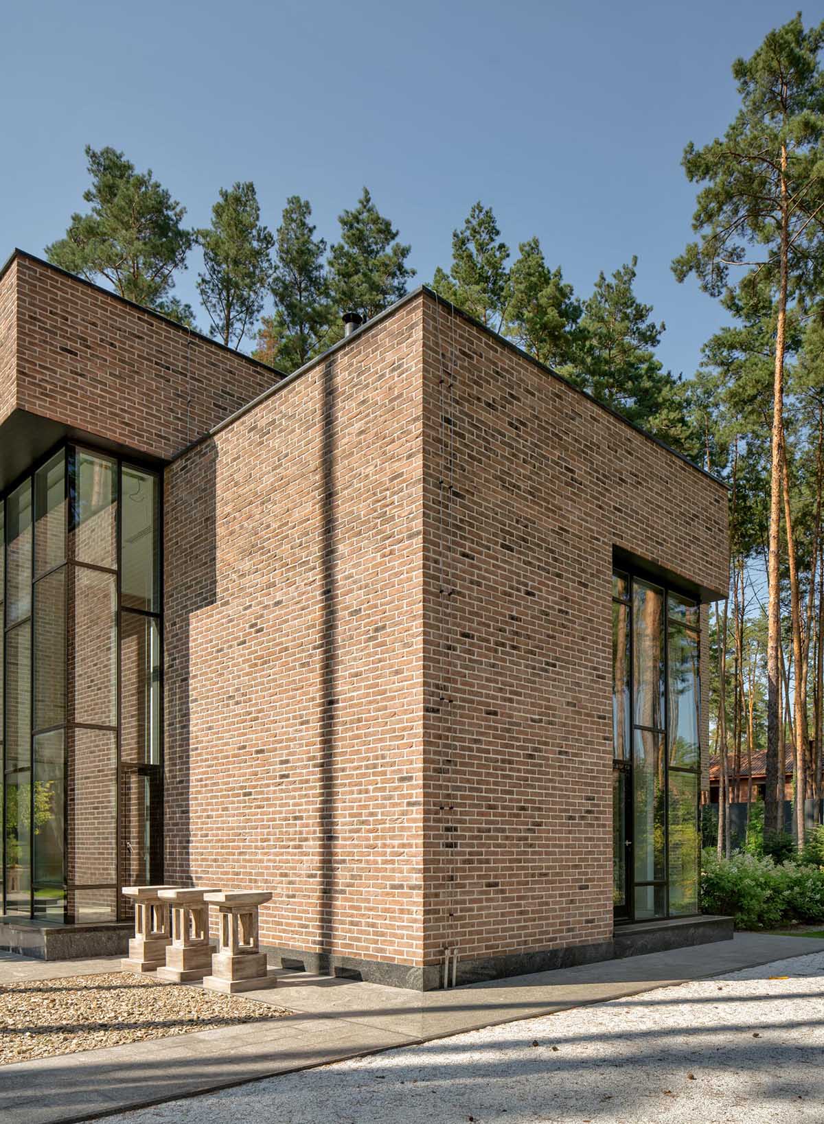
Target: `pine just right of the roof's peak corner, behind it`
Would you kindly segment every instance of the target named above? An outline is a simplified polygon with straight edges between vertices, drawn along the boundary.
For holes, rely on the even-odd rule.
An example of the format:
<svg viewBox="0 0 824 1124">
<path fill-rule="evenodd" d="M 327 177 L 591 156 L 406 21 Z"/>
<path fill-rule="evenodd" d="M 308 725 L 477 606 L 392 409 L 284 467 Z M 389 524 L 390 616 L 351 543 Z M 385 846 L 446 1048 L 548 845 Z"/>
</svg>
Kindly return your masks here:
<svg viewBox="0 0 824 1124">
<path fill-rule="evenodd" d="M 452 232 L 452 265 L 449 274 L 440 266 L 432 287 L 481 324 L 500 332 L 509 303 L 509 247 L 491 208 L 478 201 L 460 230 Z"/>
</svg>

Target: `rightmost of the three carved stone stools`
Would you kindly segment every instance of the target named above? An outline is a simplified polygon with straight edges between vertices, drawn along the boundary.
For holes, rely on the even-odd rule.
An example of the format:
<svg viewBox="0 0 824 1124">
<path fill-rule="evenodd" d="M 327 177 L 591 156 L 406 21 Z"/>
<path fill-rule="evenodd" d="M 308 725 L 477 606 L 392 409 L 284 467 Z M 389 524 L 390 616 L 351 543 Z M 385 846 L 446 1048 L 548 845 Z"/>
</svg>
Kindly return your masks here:
<svg viewBox="0 0 824 1124">
<path fill-rule="evenodd" d="M 203 895 L 220 915 L 218 950 L 211 958 L 211 976 L 206 977 L 203 987 L 229 995 L 274 987 L 278 979 L 274 973 L 269 975 L 266 954 L 257 943 L 257 908 L 271 897 L 247 890 Z"/>
</svg>

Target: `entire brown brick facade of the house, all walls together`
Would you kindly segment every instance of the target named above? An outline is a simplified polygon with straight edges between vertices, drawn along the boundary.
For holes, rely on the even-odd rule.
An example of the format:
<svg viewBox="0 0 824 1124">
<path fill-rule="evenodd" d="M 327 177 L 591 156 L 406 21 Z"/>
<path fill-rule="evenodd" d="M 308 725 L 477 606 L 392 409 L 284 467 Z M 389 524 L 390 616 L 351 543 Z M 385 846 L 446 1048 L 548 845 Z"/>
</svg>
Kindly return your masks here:
<svg viewBox="0 0 824 1124">
<path fill-rule="evenodd" d="M 427 290 L 225 424 L 278 377 L 43 263 L 2 330 L 18 406 L 173 457 L 165 880 L 416 987 L 607 949 L 614 552 L 723 596 L 726 490 Z"/>
</svg>

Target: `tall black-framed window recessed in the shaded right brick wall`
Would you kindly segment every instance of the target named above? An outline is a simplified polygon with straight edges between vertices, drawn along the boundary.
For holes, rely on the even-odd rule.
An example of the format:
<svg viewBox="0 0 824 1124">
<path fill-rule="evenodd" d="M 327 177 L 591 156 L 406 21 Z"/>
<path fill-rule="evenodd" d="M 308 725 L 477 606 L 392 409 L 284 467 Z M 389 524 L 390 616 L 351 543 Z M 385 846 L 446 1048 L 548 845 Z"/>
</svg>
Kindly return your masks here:
<svg viewBox="0 0 824 1124">
<path fill-rule="evenodd" d="M 616 919 L 698 912 L 698 604 L 613 575 L 613 898 Z"/>
</svg>

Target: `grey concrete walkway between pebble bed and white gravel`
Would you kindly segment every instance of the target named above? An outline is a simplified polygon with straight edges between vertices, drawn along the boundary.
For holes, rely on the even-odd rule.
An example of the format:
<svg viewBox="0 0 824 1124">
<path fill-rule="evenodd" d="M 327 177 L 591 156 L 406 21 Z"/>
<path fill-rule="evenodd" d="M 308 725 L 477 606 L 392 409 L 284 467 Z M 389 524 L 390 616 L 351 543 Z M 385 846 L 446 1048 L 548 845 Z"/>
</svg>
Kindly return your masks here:
<svg viewBox="0 0 824 1124">
<path fill-rule="evenodd" d="M 278 988 L 246 992 L 293 1012 L 269 1027 L 201 1031 L 0 1068 L 0 1120 L 69 1124 L 822 951 L 824 941 L 742 933 L 717 944 L 424 995 L 283 972 Z M 112 967 L 109 960 L 43 963 L 6 955 L 0 984 Z"/>
</svg>

